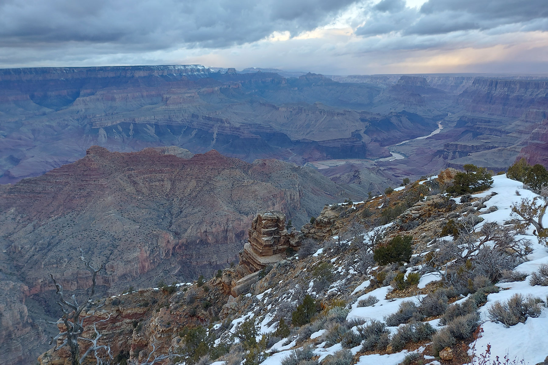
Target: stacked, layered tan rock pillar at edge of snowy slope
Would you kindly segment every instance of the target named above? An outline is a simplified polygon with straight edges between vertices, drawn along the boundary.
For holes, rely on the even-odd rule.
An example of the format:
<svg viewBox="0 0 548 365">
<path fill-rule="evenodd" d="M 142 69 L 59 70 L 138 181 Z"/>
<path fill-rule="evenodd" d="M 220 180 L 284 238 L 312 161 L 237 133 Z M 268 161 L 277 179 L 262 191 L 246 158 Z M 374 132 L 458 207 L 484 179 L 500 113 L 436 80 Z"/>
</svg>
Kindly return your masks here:
<svg viewBox="0 0 548 365">
<path fill-rule="evenodd" d="M 301 233 L 286 229 L 286 215 L 280 211 L 261 211 L 253 218 L 249 239 L 240 253 L 240 263 L 250 273 L 287 257 L 287 251 L 297 251 Z"/>
</svg>

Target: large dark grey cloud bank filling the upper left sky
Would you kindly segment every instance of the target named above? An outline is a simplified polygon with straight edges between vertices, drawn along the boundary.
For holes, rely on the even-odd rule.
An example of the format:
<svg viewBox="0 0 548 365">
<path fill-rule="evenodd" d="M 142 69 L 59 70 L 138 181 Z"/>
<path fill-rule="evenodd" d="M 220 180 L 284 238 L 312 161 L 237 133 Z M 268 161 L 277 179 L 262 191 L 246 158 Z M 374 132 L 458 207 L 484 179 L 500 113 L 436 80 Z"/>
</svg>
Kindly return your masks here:
<svg viewBox="0 0 548 365">
<path fill-rule="evenodd" d="M 18 0 L 0 2 L 0 46 L 67 42 L 227 47 L 312 30 L 352 0 Z"/>
</svg>

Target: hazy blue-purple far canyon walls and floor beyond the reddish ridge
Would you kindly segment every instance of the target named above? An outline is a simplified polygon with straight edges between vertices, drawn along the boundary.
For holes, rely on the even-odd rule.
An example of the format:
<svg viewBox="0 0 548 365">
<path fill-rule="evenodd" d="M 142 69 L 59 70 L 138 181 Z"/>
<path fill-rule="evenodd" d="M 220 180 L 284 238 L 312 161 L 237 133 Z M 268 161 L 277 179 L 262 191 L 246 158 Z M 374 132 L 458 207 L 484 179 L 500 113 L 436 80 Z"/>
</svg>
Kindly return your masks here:
<svg viewBox="0 0 548 365">
<path fill-rule="evenodd" d="M 321 173 L 364 185 L 377 176 L 395 182 L 467 163 L 500 171 L 518 155 L 542 159 L 543 146 L 530 134 L 538 134 L 547 117 L 543 76 L 274 71 L 2 69 L 0 183 L 76 161 L 92 145 L 118 152 L 216 149 L 247 162 L 275 158 L 298 165 L 349 160 Z M 438 125 L 438 134 L 414 139 Z"/>
</svg>

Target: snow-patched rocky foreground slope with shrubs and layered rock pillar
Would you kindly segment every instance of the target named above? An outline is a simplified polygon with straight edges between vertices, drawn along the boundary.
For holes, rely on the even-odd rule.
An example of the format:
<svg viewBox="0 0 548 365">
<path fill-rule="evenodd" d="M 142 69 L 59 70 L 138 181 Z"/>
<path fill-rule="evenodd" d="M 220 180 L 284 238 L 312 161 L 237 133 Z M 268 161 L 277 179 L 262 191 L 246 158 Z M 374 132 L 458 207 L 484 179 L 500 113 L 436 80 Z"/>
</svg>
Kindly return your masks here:
<svg viewBox="0 0 548 365">
<path fill-rule="evenodd" d="M 257 268 L 242 260 L 208 281 L 107 298 L 90 324 L 110 314 L 98 323 L 105 343 L 118 359 L 136 363 L 153 345 L 158 353 L 179 351 L 174 361 L 187 364 L 460 365 L 486 351 L 542 362 L 548 251 L 511 213 L 520 199 L 537 195 L 502 175 L 484 192 L 450 199 L 437 191 L 452 177 L 445 171 L 365 202 L 327 206 L 296 233 L 303 241 L 293 256 L 287 250 L 250 275 Z M 282 219 L 259 213 L 248 250 L 274 236 L 279 246 L 264 257 L 287 247 Z M 409 256 L 379 264 L 386 258 L 376 250 L 402 236 L 410 239 Z M 246 277 L 234 292 L 232 283 Z M 497 308 L 515 295 L 529 309 L 503 318 Z M 43 365 L 66 361 L 63 351 L 39 357 Z"/>
</svg>

